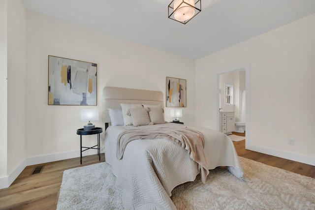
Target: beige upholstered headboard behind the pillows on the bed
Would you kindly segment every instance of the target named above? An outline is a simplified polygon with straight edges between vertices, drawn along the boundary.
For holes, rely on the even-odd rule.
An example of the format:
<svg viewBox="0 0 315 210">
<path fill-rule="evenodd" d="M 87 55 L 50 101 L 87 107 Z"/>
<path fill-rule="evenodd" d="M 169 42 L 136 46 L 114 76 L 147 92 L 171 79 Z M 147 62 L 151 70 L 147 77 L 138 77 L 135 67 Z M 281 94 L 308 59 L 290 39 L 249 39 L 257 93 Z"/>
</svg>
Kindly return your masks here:
<svg viewBox="0 0 315 210">
<path fill-rule="evenodd" d="M 161 105 L 164 108 L 163 92 L 130 88 L 105 87 L 103 89 L 103 122 L 110 122 L 108 108 L 121 108 L 121 103 Z"/>
</svg>

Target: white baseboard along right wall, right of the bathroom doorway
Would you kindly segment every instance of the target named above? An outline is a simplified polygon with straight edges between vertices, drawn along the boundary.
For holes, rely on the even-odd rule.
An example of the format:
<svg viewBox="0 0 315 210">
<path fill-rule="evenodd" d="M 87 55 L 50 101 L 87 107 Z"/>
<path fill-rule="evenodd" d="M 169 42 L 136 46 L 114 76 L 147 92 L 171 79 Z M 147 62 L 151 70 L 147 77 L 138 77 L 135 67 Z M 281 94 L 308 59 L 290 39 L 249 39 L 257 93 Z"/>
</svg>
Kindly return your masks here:
<svg viewBox="0 0 315 210">
<path fill-rule="evenodd" d="M 293 161 L 315 166 L 315 157 L 305 156 L 305 155 L 291 153 L 291 152 L 282 151 L 282 150 L 275 150 L 271 148 L 260 147 L 257 145 L 246 145 L 245 148 L 247 150 L 257 151 L 260 153 L 269 154 L 276 157 L 281 157 L 284 159 L 293 160 Z"/>
</svg>

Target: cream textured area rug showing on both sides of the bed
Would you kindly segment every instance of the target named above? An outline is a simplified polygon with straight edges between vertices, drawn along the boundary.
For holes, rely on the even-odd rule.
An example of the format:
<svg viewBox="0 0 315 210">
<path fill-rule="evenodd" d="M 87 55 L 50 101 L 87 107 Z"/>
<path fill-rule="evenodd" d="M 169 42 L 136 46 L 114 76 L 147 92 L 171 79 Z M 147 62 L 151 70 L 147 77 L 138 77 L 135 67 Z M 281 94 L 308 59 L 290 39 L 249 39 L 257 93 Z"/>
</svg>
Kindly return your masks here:
<svg viewBox="0 0 315 210">
<path fill-rule="evenodd" d="M 314 210 L 315 179 L 240 157 L 239 180 L 225 167 L 210 170 L 203 184 L 177 186 L 172 201 L 178 210 Z M 57 210 L 123 210 L 111 166 L 105 162 L 63 172 Z"/>
</svg>

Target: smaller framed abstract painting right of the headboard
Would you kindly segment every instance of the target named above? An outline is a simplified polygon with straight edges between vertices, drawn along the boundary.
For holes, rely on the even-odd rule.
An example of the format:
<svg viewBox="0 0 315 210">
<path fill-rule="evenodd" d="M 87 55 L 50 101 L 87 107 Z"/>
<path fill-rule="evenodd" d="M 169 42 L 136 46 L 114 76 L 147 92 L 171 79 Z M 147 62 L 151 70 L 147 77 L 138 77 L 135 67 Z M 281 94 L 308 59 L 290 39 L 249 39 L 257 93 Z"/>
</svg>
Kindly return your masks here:
<svg viewBox="0 0 315 210">
<path fill-rule="evenodd" d="M 166 77 L 166 107 L 187 107 L 185 79 Z"/>
</svg>

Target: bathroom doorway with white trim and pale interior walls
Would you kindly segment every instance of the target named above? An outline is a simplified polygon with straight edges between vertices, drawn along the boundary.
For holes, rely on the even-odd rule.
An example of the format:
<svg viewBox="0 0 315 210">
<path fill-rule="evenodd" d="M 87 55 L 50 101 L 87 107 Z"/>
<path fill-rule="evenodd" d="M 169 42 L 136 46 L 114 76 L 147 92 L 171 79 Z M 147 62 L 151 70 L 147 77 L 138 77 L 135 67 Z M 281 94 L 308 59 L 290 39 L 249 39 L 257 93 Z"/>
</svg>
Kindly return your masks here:
<svg viewBox="0 0 315 210">
<path fill-rule="evenodd" d="M 232 91 L 233 90 L 233 91 Z M 232 92 L 231 92 L 232 91 Z M 246 97 L 245 97 L 246 94 Z M 242 104 L 242 99 L 244 99 Z M 223 70 L 217 74 L 218 130 L 220 112 L 234 113 L 235 122 L 245 122 L 246 144 L 250 142 L 250 64 Z M 238 123 L 239 125 L 240 123 Z M 241 131 L 239 129 L 239 131 Z M 245 133 L 240 135 L 245 135 Z"/>
</svg>

